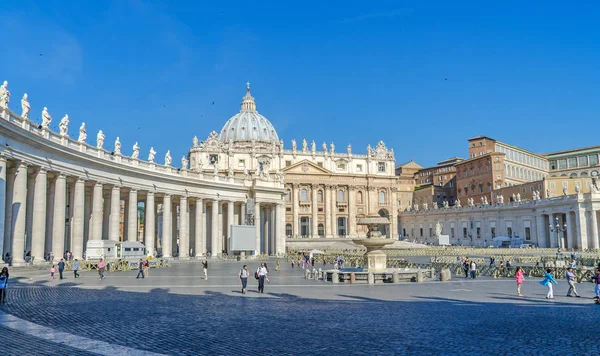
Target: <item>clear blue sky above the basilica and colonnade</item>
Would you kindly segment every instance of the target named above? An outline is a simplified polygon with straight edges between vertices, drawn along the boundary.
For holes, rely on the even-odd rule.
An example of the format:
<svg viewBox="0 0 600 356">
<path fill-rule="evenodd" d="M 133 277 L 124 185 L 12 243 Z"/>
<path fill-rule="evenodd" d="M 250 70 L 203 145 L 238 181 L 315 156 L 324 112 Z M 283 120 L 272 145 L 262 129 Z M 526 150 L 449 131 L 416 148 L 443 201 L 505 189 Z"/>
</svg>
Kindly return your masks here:
<svg viewBox="0 0 600 356">
<path fill-rule="evenodd" d="M 4 0 L 0 80 L 15 111 L 27 92 L 33 119 L 47 106 L 159 161 L 219 132 L 246 81 L 287 148 L 383 140 L 433 165 L 477 135 L 600 144 L 598 2 L 490 3 Z"/>
</svg>

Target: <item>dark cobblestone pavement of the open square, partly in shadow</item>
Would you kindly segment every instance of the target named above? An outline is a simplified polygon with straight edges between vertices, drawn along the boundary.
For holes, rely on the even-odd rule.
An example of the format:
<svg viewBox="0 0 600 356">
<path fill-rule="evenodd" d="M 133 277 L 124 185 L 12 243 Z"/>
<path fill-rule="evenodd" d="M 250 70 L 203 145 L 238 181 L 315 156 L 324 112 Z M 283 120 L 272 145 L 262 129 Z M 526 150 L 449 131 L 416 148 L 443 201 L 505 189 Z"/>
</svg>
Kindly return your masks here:
<svg viewBox="0 0 600 356">
<path fill-rule="evenodd" d="M 526 280 L 526 297 L 518 298 L 512 280 L 333 285 L 305 280 L 286 264 L 271 272 L 265 294 L 252 279 L 243 295 L 235 278 L 240 266 L 210 263 L 208 280 L 197 263 L 151 270 L 146 280 L 132 271 L 52 281 L 43 271 L 14 270 L 0 312 L 172 355 L 600 354 L 591 284 L 578 285 L 583 298 L 566 298 L 559 282 L 556 299 L 546 300 L 538 279 Z M 249 266 L 253 271 L 256 263 Z M 2 354 L 78 354 L 60 340 L 0 327 L 11 339 Z"/>
</svg>

